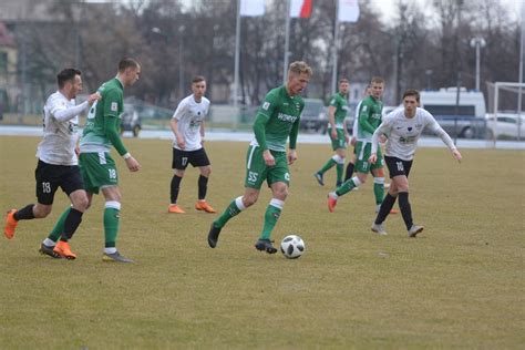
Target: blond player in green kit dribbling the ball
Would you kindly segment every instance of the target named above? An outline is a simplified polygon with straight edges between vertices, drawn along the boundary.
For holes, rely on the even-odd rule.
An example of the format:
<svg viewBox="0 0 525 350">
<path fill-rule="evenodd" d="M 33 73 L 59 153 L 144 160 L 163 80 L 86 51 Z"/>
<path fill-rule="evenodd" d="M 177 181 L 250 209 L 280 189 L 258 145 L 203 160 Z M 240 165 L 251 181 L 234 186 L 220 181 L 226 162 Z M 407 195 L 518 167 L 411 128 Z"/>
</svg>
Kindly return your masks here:
<svg viewBox="0 0 525 350">
<path fill-rule="evenodd" d="M 265 96 L 254 123 L 255 140 L 251 141 L 246 157 L 245 194 L 234 199 L 212 223 L 208 233 L 208 244 L 212 248 L 216 247 L 220 230 L 226 223 L 257 202 L 260 187 L 266 181 L 272 198 L 266 208 L 262 231 L 255 248 L 268 254 L 277 253 L 270 236 L 288 195 L 290 182 L 288 165 L 297 159 L 299 117 L 305 106 L 299 94 L 306 89 L 311 74 L 308 64 L 301 61 L 294 62 L 288 69 L 286 85 L 272 89 Z M 287 154 L 288 137 L 290 143 Z"/>
</svg>

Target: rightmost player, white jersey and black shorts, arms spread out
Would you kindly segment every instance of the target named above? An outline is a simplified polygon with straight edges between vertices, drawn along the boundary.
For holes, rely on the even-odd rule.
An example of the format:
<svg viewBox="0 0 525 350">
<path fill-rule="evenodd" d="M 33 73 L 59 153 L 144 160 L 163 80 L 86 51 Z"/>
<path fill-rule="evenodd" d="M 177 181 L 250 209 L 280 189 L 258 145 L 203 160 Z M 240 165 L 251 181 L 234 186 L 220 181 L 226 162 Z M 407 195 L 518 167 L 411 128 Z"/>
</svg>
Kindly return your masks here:
<svg viewBox="0 0 525 350">
<path fill-rule="evenodd" d="M 437 124 L 432 114 L 418 107 L 420 93 L 416 90 L 406 90 L 403 93 L 404 109 L 391 112 L 375 130 L 372 136 L 370 163 L 375 163 L 378 143 L 381 135 L 387 135 L 384 162 L 390 172 L 392 183 L 389 193 L 383 199 L 378 216 L 372 224 L 372 231 L 387 235 L 383 222 L 390 213 L 397 197 L 403 216 L 409 237 L 415 237 L 423 230 L 423 226 L 415 225 L 412 219 L 412 209 L 409 203 L 409 173 L 418 146 L 418 140 L 425 127 L 433 131 L 451 150 L 452 156 L 461 163 L 462 156 L 449 134 Z"/>
</svg>

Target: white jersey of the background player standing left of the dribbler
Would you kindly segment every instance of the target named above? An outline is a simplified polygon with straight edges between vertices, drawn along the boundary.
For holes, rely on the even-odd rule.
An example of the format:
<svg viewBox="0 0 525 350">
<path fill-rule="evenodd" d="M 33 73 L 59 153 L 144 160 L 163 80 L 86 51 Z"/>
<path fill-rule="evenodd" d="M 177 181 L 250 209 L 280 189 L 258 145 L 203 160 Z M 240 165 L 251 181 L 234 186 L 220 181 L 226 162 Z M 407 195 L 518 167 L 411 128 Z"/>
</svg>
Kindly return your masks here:
<svg viewBox="0 0 525 350">
<path fill-rule="evenodd" d="M 200 102 L 196 102 L 194 95 L 185 97 L 178 104 L 173 117 L 177 120 L 177 128 L 183 134 L 186 146 L 184 151 L 197 151 L 203 147 L 200 138 L 200 125 L 203 124 L 209 111 L 209 100 L 202 97 Z M 173 146 L 177 146 L 177 141 L 174 140 Z"/>
</svg>

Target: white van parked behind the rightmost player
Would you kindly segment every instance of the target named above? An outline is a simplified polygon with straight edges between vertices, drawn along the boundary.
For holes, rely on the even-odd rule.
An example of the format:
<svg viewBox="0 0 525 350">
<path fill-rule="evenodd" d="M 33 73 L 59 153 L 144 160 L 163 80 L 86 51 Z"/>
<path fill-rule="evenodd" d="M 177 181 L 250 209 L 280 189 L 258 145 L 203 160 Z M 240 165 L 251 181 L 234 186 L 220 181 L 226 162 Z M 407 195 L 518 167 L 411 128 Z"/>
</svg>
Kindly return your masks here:
<svg viewBox="0 0 525 350">
<path fill-rule="evenodd" d="M 460 103 L 456 106 L 456 87 L 422 91 L 421 107 L 432 113 L 452 137 L 472 138 L 475 135 L 475 119 L 485 117 L 485 97 L 481 92 L 460 87 Z"/>
</svg>

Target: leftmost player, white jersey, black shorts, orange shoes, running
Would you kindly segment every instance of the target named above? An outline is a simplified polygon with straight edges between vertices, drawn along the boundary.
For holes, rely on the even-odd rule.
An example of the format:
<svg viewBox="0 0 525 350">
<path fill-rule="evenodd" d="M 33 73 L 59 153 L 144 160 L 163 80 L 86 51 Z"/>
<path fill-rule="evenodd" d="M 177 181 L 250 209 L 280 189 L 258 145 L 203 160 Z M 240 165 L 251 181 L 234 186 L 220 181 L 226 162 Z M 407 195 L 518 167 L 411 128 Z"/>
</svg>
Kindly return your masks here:
<svg viewBox="0 0 525 350">
<path fill-rule="evenodd" d="M 79 114 L 100 99 L 100 95 L 94 93 L 87 101 L 76 105 L 74 99 L 82 91 L 81 74 L 76 69 L 65 69 L 56 75 L 59 91 L 49 96 L 43 107 L 43 140 L 37 151 L 39 162 L 34 177 L 38 203 L 9 210 L 3 229 L 6 237 L 11 239 L 19 220 L 47 217 L 53 206 L 54 193 L 61 187 L 70 197 L 72 208 L 65 218 L 60 241 L 44 241 L 40 251 L 69 259 L 76 256 L 71 251 L 68 240 L 79 227 L 87 207 L 87 196 L 75 152 Z"/>
</svg>

